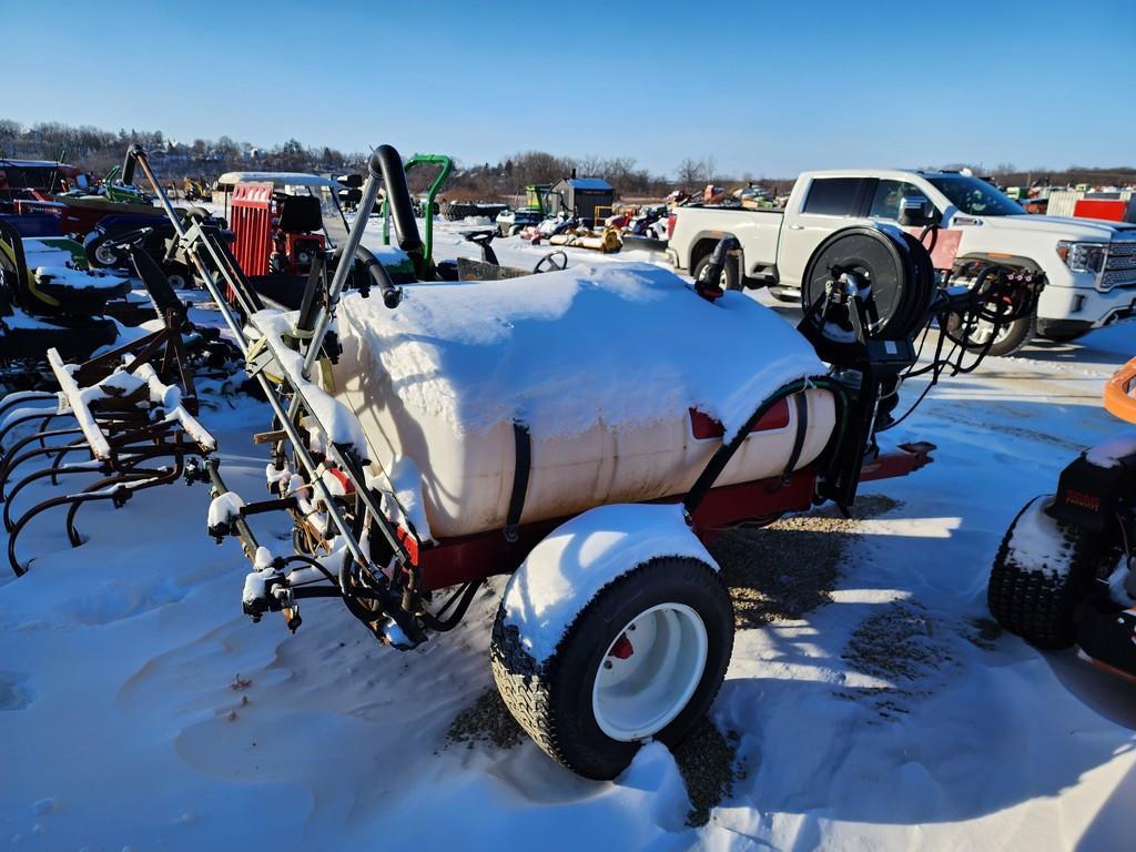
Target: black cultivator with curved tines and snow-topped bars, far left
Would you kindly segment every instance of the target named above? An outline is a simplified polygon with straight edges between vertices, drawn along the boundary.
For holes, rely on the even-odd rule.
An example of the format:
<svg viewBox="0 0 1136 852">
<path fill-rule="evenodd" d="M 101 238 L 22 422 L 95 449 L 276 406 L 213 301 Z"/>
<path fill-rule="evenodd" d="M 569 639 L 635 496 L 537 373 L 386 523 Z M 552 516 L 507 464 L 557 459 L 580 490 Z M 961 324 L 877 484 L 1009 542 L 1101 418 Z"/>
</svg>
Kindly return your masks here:
<svg viewBox="0 0 1136 852">
<path fill-rule="evenodd" d="M 182 342 L 182 319 L 177 311 L 167 311 L 165 328 L 81 365 L 65 364 L 50 349 L 48 364 L 60 390 L 23 391 L 0 401 L 0 417 L 26 402 L 56 403 L 53 409 L 11 411 L 0 427 L 2 446 L 5 437 L 17 427 L 40 421 L 35 432 L 0 452 L 8 563 L 16 576 L 25 574 L 30 565 L 19 561 L 17 542 L 40 515 L 66 507 L 67 538 L 77 548 L 83 537 L 75 518 L 82 507 L 109 501 L 119 508 L 140 491 L 176 482 L 187 458 L 207 457 L 217 449 L 216 440 L 197 420 L 198 398 Z M 165 384 L 162 376 L 176 376 L 181 386 Z M 48 428 L 61 417 L 75 425 Z M 67 461 L 68 456 L 83 452 L 87 459 Z M 33 460 L 48 463 L 16 478 L 16 471 Z M 45 478 L 58 485 L 60 477 L 70 474 L 101 476 L 82 491 L 42 500 L 18 515 L 14 511 L 24 488 Z"/>
</svg>

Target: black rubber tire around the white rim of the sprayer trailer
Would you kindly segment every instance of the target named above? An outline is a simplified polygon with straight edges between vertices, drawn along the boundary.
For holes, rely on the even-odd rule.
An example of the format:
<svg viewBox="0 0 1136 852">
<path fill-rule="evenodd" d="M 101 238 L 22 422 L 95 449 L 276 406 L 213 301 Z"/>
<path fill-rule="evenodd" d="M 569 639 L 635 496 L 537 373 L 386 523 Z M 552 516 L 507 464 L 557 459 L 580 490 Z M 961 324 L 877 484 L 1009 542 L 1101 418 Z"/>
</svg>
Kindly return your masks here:
<svg viewBox="0 0 1136 852">
<path fill-rule="evenodd" d="M 678 716 L 654 738 L 682 742 L 710 708 L 734 649 L 734 607 L 720 573 L 696 559 L 662 557 L 612 580 L 582 608 L 543 665 L 525 650 L 503 607 L 493 625 L 493 679 L 513 718 L 550 758 L 585 778 L 615 778 L 638 742 L 604 734 L 592 710 L 592 686 L 603 654 L 624 625 L 659 603 L 684 603 L 702 618 L 708 654 L 702 679 Z"/>
</svg>

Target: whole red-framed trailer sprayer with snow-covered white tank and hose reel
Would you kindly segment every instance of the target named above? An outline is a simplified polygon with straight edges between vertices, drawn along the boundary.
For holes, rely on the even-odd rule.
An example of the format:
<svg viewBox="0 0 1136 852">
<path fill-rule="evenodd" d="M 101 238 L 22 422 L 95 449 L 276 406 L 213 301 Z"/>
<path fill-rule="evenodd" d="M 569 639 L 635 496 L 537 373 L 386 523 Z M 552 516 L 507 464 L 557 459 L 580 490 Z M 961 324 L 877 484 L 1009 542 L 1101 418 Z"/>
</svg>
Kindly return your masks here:
<svg viewBox="0 0 1136 852">
<path fill-rule="evenodd" d="M 394 286 L 360 247 L 381 183 L 417 283 Z M 244 611 L 294 630 L 304 599 L 335 596 L 410 649 L 509 574 L 498 687 L 546 753 L 592 778 L 646 738 L 682 740 L 722 682 L 734 620 L 704 542 L 927 463 L 928 444 L 882 449 L 885 400 L 919 331 L 978 306 L 936 289 L 918 241 L 876 228 L 821 245 L 800 331 L 709 284 L 720 266 L 694 287 L 648 265 L 440 282 L 389 145 L 299 311 L 266 309 L 215 234 L 179 235 L 274 414 L 258 436 L 269 500 L 203 469 L 209 533 L 253 563 Z M 1003 316 L 999 282 L 984 304 Z M 272 511 L 293 519 L 291 553 L 256 536 Z"/>
</svg>

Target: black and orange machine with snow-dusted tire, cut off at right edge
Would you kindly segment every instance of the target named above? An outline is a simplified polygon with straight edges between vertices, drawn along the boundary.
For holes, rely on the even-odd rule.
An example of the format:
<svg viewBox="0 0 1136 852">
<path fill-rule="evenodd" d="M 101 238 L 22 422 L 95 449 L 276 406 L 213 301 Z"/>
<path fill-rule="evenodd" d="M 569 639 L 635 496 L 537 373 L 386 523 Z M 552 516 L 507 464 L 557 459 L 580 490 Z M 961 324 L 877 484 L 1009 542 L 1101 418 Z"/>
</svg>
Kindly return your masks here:
<svg viewBox="0 0 1136 852">
<path fill-rule="evenodd" d="M 1136 424 L 1136 358 L 1104 389 L 1104 407 Z M 1055 494 L 1013 519 L 991 570 L 991 612 L 1038 648 L 1079 646 L 1136 682 L 1136 433 L 1085 450 Z"/>
</svg>

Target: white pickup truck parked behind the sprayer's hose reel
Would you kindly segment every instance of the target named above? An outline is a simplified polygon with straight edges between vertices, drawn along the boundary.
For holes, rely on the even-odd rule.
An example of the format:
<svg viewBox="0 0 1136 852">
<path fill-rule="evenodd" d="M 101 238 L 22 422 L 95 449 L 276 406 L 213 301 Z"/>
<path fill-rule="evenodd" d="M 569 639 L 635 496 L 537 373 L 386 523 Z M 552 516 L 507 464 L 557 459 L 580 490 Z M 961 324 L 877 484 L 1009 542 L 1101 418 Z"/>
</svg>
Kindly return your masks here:
<svg viewBox="0 0 1136 852">
<path fill-rule="evenodd" d="M 910 198 L 934 206 L 941 239 L 957 244 L 958 258 L 1044 273 L 1036 317 L 1003 328 L 993 354 L 1017 350 L 1035 333 L 1068 341 L 1136 316 L 1136 225 L 1030 216 L 991 184 L 958 172 L 805 172 L 780 210 L 679 207 L 667 253 L 676 269 L 696 277 L 718 240 L 735 236 L 741 262 L 727 264 L 725 283 L 768 286 L 780 299 L 797 300 L 809 258 L 825 237 L 850 225 L 894 225 L 901 201 Z"/>
</svg>

